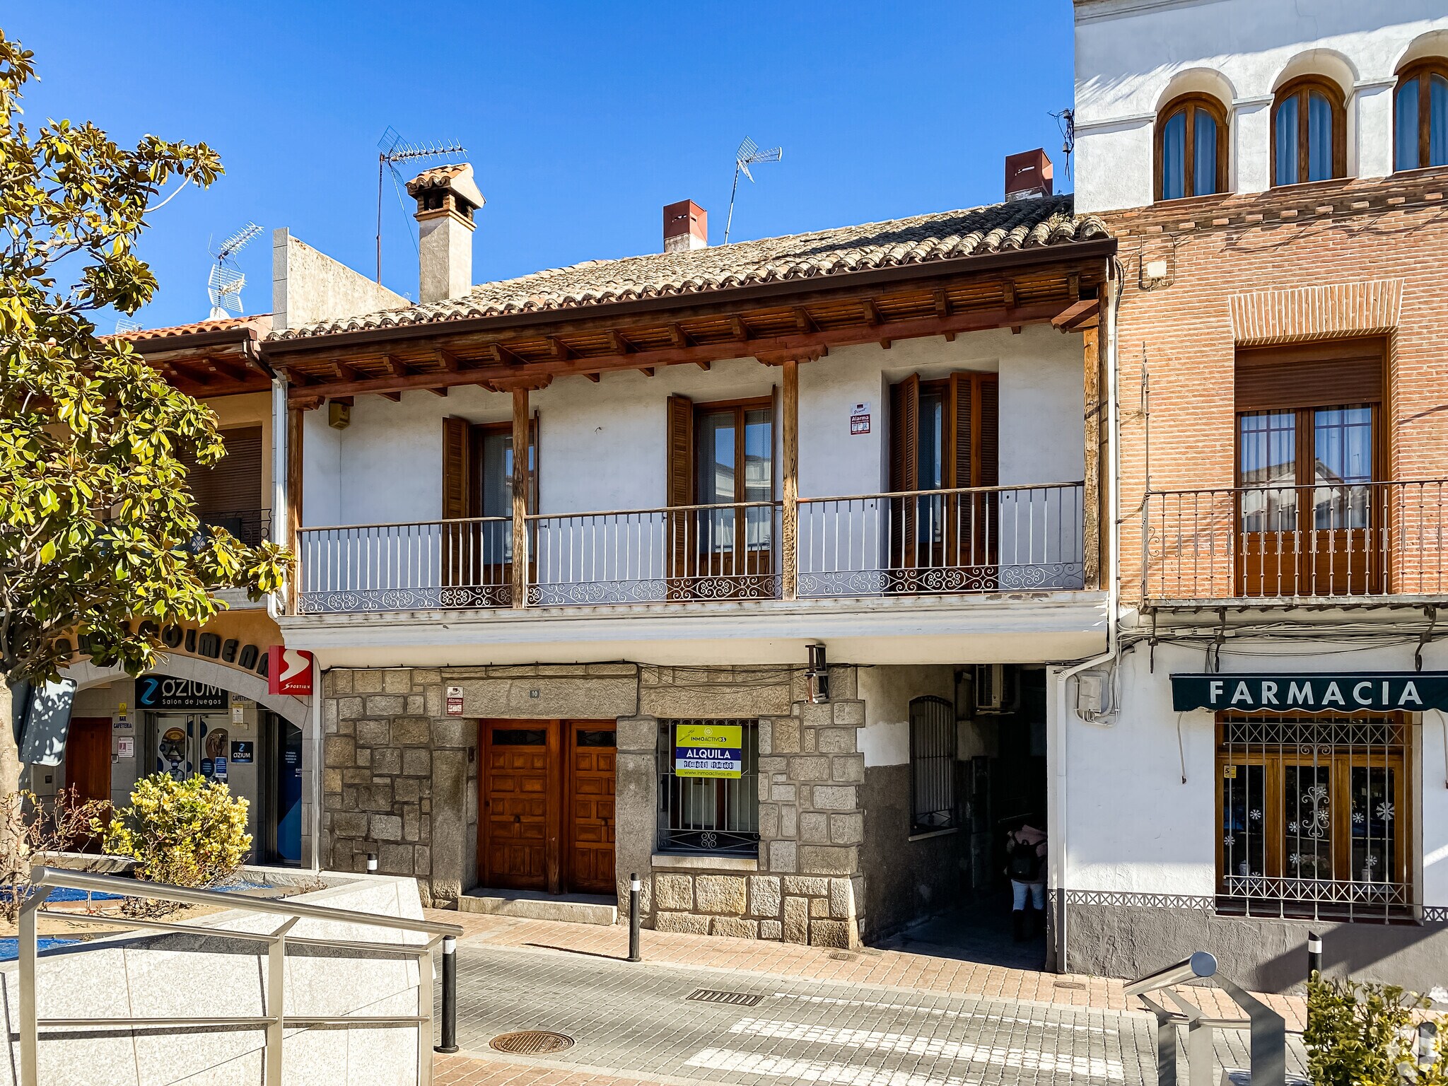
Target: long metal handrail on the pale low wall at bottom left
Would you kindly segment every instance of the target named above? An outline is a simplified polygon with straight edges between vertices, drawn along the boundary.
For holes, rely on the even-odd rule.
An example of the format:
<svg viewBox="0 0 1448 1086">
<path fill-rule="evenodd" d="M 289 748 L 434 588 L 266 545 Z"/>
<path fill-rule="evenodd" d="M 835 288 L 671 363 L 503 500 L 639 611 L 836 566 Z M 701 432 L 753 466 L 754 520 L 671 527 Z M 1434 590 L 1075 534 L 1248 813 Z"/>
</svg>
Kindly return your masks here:
<svg viewBox="0 0 1448 1086">
<path fill-rule="evenodd" d="M 433 948 L 445 938 L 458 938 L 462 928 L 456 924 L 440 924 L 427 919 L 404 917 L 379 917 L 372 912 L 334 909 L 308 902 L 288 902 L 272 898 L 237 898 L 219 891 L 168 886 L 155 882 L 138 882 L 114 875 L 72 872 L 59 867 L 35 866 L 30 869 L 30 885 L 35 892 L 20 906 L 19 917 L 19 964 L 20 964 L 20 1086 L 39 1086 L 39 1040 L 41 1030 L 114 1030 L 145 1027 L 188 1027 L 229 1028 L 265 1027 L 264 1086 L 279 1086 L 282 1076 L 282 1035 L 288 1027 L 297 1025 L 416 1025 L 417 1027 L 417 1082 L 430 1086 L 433 1080 L 432 1025 L 433 1025 Z M 114 927 L 145 928 L 151 931 L 174 931 L 182 934 L 204 934 L 220 938 L 236 938 L 266 944 L 266 1011 L 264 1015 L 210 1016 L 210 1018 L 41 1018 L 35 1002 L 35 975 L 39 959 L 39 917 L 62 914 L 42 909 L 52 889 L 68 888 L 94 893 L 119 893 L 127 898 L 151 898 L 182 905 L 219 905 L 243 912 L 262 912 L 285 917 L 285 922 L 269 933 L 230 931 L 226 928 L 180 924 L 158 919 L 122 919 L 119 917 L 91 917 L 98 924 Z M 365 940 L 319 938 L 290 935 L 301 919 L 319 919 L 333 924 L 358 924 L 392 931 L 430 935 L 423 943 L 371 943 Z M 369 953 L 408 954 L 417 959 L 417 1014 L 416 1015 L 288 1015 L 285 1014 L 285 961 L 287 944 L 326 946 L 363 950 Z M 452 944 L 449 944 L 452 946 Z"/>
</svg>

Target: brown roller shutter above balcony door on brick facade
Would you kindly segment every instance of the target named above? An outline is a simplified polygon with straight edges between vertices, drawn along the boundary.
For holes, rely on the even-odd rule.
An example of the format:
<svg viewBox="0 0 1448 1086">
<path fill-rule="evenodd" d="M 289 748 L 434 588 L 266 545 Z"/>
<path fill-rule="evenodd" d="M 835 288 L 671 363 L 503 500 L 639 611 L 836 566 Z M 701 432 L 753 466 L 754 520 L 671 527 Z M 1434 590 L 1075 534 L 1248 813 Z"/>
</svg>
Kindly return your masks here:
<svg viewBox="0 0 1448 1086">
<path fill-rule="evenodd" d="M 1380 339 L 1237 352 L 1238 411 L 1283 411 L 1383 401 Z"/>
</svg>

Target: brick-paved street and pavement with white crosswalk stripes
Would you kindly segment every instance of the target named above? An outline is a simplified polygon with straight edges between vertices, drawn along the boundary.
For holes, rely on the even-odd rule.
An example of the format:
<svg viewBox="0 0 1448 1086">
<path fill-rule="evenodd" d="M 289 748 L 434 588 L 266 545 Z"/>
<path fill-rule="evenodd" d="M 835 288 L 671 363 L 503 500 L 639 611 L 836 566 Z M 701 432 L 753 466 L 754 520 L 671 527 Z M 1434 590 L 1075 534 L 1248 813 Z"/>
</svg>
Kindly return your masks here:
<svg viewBox="0 0 1448 1086">
<path fill-rule="evenodd" d="M 1003 969 L 892 950 L 838 951 L 643 933 L 623 961 L 623 927 L 437 914 L 460 922 L 463 1053 L 439 1057 L 440 1086 L 604 1086 L 724 1082 L 765 1086 L 1147 1086 L 1154 1021 L 1119 980 Z M 1077 988 L 1079 985 L 1079 988 Z M 696 988 L 759 996 L 752 1006 L 686 999 Z M 1216 1014 L 1212 989 L 1190 996 Z M 1300 1001 L 1273 998 L 1300 1028 Z M 576 1044 L 547 1058 L 488 1041 L 556 1030 Z M 1219 1058 L 1244 1066 L 1244 1038 Z M 1300 1064 L 1300 1044 L 1293 1043 Z"/>
</svg>

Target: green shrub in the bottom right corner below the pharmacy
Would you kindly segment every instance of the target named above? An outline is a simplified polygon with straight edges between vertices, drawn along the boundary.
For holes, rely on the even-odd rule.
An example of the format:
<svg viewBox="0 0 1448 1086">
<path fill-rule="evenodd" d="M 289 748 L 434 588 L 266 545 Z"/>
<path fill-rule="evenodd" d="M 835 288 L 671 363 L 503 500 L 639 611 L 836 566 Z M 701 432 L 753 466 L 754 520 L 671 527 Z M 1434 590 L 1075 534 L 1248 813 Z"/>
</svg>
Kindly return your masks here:
<svg viewBox="0 0 1448 1086">
<path fill-rule="evenodd" d="M 1393 985 L 1326 980 L 1313 973 L 1302 1041 L 1315 1086 L 1448 1083 L 1448 1022 L 1426 1014 L 1428 1006 L 1425 996 Z M 1425 1024 L 1426 1051 L 1419 1044 Z"/>
</svg>

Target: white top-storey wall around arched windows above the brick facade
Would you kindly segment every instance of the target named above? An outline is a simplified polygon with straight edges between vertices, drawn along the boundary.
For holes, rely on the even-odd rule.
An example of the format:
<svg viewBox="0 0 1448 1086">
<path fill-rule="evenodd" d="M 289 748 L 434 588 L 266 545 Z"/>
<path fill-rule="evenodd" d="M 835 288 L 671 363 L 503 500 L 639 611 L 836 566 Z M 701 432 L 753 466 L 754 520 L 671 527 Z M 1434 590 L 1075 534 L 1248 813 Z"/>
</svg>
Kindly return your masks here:
<svg viewBox="0 0 1448 1086">
<path fill-rule="evenodd" d="M 1153 201 L 1156 113 L 1180 93 L 1228 106 L 1237 191 L 1270 187 L 1270 104 L 1296 75 L 1348 100 L 1348 175 L 1393 169 L 1394 72 L 1448 55 L 1442 0 L 1096 0 L 1076 4 L 1076 210 Z M 1423 39 L 1425 35 L 1434 35 Z"/>
</svg>

